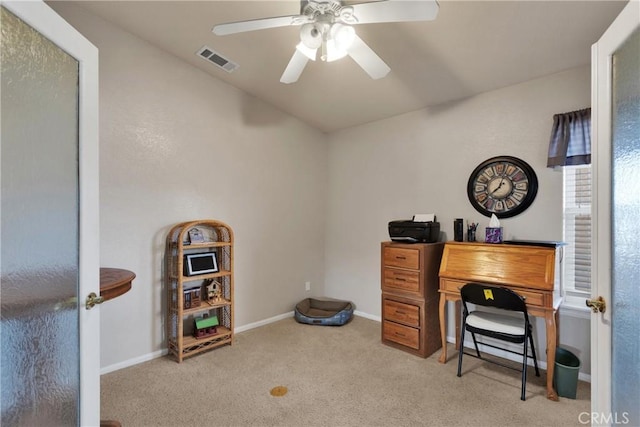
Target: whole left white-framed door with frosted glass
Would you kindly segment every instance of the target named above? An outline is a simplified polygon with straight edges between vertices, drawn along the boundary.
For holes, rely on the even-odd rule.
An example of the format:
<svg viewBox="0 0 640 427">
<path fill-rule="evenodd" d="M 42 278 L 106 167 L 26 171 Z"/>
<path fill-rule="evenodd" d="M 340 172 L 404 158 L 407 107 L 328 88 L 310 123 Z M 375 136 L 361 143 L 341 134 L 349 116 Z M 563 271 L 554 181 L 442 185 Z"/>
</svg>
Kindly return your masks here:
<svg viewBox="0 0 640 427">
<path fill-rule="evenodd" d="M 2 12 L 2 424 L 100 424 L 98 50 L 40 0 Z"/>
</svg>

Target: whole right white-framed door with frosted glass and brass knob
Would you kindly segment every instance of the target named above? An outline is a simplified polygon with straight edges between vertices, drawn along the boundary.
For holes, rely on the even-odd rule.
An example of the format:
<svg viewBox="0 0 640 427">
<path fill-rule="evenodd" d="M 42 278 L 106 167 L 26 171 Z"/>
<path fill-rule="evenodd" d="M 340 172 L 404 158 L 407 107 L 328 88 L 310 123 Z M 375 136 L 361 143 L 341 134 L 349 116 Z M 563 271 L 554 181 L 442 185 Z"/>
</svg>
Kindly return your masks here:
<svg viewBox="0 0 640 427">
<path fill-rule="evenodd" d="M 591 414 L 583 424 L 640 425 L 640 2 L 592 47 L 594 269 Z"/>
</svg>

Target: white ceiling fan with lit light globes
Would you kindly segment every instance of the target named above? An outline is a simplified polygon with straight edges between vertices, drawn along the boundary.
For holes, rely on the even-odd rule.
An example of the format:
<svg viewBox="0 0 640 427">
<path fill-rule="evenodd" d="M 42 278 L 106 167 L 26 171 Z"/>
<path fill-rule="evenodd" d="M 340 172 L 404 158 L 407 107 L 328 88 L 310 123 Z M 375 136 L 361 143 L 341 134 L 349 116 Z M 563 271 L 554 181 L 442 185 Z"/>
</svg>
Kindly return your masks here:
<svg viewBox="0 0 640 427">
<path fill-rule="evenodd" d="M 438 14 L 436 0 L 381 0 L 345 4 L 341 0 L 301 0 L 300 14 L 230 22 L 213 27 L 219 36 L 268 28 L 299 26 L 300 43 L 280 81 L 294 83 L 309 60 L 331 62 L 349 55 L 372 79 L 391 69 L 362 41 L 353 25 L 381 22 L 430 21 Z"/>
</svg>

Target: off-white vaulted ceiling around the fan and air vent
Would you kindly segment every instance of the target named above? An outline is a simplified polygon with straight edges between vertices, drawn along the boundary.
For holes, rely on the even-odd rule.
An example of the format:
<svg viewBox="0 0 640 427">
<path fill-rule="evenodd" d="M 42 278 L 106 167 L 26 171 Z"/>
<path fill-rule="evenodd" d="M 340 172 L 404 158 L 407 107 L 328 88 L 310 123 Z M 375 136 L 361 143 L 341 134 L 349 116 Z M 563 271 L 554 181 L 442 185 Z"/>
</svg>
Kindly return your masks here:
<svg viewBox="0 0 640 427">
<path fill-rule="evenodd" d="M 298 1 L 81 1 L 78 4 L 212 76 L 331 132 L 590 62 L 618 1 L 440 1 L 434 21 L 366 24 L 358 35 L 391 67 L 372 80 L 353 62 L 309 62 L 279 82 L 299 27 L 216 36 L 215 24 L 294 15 Z M 203 46 L 239 68 L 196 56 Z"/>
</svg>

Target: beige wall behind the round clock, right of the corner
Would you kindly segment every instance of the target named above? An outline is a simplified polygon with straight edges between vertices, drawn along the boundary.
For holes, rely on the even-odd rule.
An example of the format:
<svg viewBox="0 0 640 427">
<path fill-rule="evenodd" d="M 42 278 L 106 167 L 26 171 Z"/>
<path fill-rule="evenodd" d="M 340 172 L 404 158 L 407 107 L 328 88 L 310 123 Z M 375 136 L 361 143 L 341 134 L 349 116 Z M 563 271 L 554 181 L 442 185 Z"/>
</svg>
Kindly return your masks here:
<svg viewBox="0 0 640 427">
<path fill-rule="evenodd" d="M 435 213 L 441 240 L 453 239 L 454 218 L 479 222 L 483 236 L 488 218 L 473 209 L 466 187 L 493 156 L 525 160 L 539 180 L 533 205 L 501 221 L 505 239 L 562 240 L 562 173 L 546 167 L 552 116 L 588 107 L 590 93 L 585 66 L 331 134 L 327 294 L 380 316 L 380 242 L 389 239 L 390 220 Z M 588 332 L 588 321 L 581 324 Z M 575 335 L 565 336 L 571 343 Z M 588 357 L 588 342 L 579 345 Z"/>
</svg>

